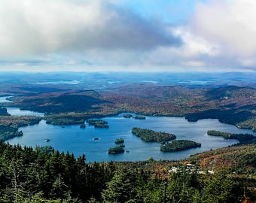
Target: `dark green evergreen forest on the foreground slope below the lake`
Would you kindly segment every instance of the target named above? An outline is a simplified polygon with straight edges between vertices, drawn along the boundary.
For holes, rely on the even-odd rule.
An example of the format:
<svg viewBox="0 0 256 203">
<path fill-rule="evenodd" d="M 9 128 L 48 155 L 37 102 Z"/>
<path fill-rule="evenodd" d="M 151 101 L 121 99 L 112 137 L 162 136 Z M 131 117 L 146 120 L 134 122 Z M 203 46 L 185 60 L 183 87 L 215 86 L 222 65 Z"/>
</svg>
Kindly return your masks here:
<svg viewBox="0 0 256 203">
<path fill-rule="evenodd" d="M 245 198 L 251 201 L 244 202 L 256 200 L 255 193 L 248 190 L 251 180 L 231 177 L 228 171 L 200 174 L 197 168 L 187 169 L 182 162 L 150 159 L 87 163 L 85 156 L 76 159 L 70 153 L 59 153 L 51 147 L 33 150 L 5 143 L 0 143 L 0 159 L 1 202 L 233 203 Z M 251 159 L 247 159 L 248 166 Z M 178 172 L 172 173 L 169 168 L 174 165 Z"/>
</svg>

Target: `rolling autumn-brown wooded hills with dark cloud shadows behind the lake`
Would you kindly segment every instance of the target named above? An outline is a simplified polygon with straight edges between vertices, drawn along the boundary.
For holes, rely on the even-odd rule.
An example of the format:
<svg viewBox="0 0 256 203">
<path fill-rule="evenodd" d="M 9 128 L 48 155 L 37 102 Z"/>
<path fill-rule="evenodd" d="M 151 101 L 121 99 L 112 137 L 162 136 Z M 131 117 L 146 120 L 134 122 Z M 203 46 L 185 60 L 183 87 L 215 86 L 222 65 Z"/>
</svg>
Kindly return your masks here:
<svg viewBox="0 0 256 203">
<path fill-rule="evenodd" d="M 242 128 L 255 129 L 256 89 L 221 86 L 194 88 L 133 84 L 105 89 L 101 92 L 81 89 L 52 89 L 42 92 L 32 87 L 15 86 L 23 92 L 3 104 L 25 110 L 47 113 L 47 123 L 55 125 L 81 124 L 99 118 L 133 112 L 154 116 L 185 116 L 189 121 L 213 118 Z M 41 87 L 42 88 L 42 87 Z M 14 89 L 5 89 L 14 93 Z M 13 91 L 13 92 L 11 92 Z M 0 92 L 1 93 L 1 92 Z"/>
</svg>

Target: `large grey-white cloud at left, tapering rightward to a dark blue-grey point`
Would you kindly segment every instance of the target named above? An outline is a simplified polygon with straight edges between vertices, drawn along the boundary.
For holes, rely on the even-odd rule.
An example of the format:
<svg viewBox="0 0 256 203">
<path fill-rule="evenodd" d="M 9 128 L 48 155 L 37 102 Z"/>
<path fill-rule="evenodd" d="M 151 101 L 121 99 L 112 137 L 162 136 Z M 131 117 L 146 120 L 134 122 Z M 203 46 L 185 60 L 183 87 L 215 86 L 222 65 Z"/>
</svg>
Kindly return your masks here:
<svg viewBox="0 0 256 203">
<path fill-rule="evenodd" d="M 181 40 L 107 1 L 0 0 L 0 56 L 151 50 Z"/>
</svg>

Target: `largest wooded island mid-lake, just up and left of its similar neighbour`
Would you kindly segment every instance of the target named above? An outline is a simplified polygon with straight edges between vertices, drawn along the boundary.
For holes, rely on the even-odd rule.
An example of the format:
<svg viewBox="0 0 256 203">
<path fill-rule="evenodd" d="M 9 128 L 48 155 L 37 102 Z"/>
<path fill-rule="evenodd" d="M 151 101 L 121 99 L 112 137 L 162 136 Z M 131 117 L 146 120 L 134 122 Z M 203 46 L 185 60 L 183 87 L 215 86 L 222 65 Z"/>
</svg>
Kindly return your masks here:
<svg viewBox="0 0 256 203">
<path fill-rule="evenodd" d="M 166 141 L 172 141 L 176 138 L 175 135 L 167 132 L 155 132 L 151 129 L 133 128 L 132 132 L 137 137 L 141 138 L 145 142 L 158 142 L 163 143 Z"/>
</svg>

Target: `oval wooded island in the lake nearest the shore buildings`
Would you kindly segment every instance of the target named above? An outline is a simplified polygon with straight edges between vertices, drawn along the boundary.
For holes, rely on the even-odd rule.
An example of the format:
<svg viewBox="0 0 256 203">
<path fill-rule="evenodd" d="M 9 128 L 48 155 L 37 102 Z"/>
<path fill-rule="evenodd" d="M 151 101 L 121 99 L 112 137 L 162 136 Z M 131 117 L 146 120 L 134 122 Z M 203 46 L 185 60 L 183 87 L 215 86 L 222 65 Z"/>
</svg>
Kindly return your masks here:
<svg viewBox="0 0 256 203">
<path fill-rule="evenodd" d="M 188 150 L 194 147 L 201 147 L 201 144 L 195 141 L 175 140 L 166 144 L 161 144 L 160 150 L 162 152 L 174 152 Z"/>
</svg>

